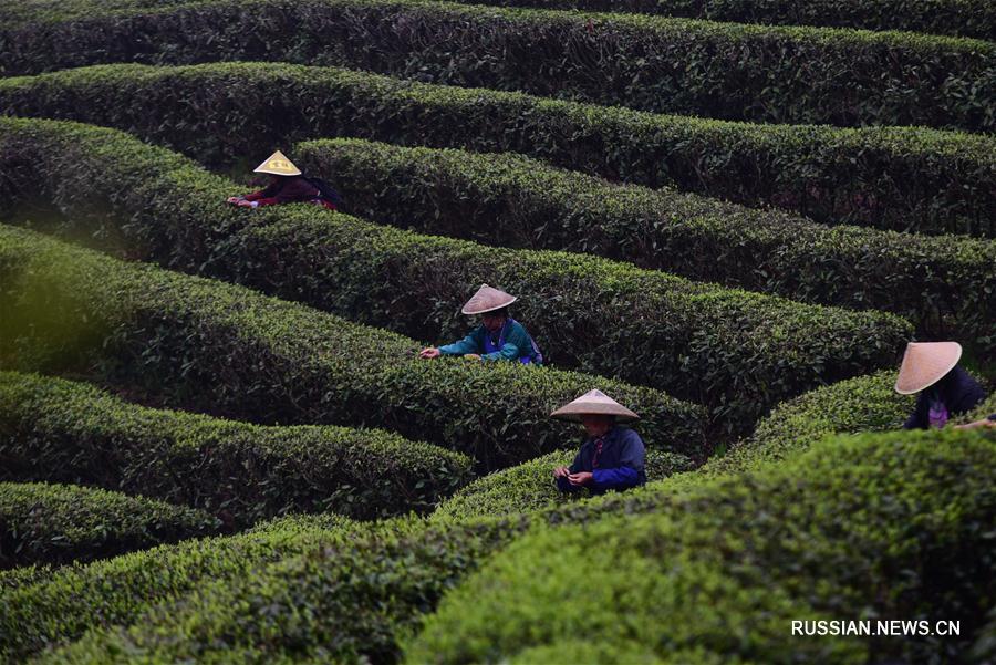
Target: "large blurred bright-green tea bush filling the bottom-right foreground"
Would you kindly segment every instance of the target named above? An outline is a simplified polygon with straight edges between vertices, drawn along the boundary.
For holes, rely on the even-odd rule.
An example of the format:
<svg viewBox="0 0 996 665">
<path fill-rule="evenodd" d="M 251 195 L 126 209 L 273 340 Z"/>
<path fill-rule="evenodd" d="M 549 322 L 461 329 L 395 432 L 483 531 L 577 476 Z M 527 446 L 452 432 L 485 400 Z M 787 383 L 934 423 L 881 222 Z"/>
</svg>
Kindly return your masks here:
<svg viewBox="0 0 996 665">
<path fill-rule="evenodd" d="M 592 625 L 605 628 L 606 653 L 955 658 L 996 599 L 994 463 L 996 433 L 839 438 L 703 484 L 655 515 L 535 531 L 447 594 L 406 659 L 506 662 Z M 955 616 L 959 637 L 800 640 L 788 630 L 801 619 Z"/>
</svg>

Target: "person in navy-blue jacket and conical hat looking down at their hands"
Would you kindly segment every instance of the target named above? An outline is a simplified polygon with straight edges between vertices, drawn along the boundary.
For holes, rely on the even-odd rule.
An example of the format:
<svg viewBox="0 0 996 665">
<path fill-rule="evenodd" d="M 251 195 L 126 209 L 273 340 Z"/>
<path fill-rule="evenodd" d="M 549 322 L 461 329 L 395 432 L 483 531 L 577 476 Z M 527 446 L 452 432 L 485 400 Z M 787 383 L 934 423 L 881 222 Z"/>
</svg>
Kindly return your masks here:
<svg viewBox="0 0 996 665">
<path fill-rule="evenodd" d="M 591 391 L 550 415 L 580 422 L 589 436 L 570 467 L 553 469 L 560 491 L 587 487 L 593 495 L 601 495 L 646 484 L 643 440 L 633 429 L 619 426 L 639 418 L 632 411 L 601 391 Z"/>
</svg>

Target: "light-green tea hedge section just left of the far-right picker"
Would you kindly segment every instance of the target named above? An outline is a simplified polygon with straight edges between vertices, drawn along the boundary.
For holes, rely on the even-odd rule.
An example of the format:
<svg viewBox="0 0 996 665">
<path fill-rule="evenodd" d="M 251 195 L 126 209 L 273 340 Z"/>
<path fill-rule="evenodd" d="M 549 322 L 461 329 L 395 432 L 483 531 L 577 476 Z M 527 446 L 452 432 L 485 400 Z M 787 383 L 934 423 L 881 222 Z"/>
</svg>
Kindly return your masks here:
<svg viewBox="0 0 996 665">
<path fill-rule="evenodd" d="M 789 399 L 758 422 L 751 436 L 702 471 L 738 472 L 760 461 L 781 460 L 831 434 L 898 429 L 913 411 L 915 395 L 893 388 L 895 370 L 883 370 L 823 386 Z"/>
</svg>

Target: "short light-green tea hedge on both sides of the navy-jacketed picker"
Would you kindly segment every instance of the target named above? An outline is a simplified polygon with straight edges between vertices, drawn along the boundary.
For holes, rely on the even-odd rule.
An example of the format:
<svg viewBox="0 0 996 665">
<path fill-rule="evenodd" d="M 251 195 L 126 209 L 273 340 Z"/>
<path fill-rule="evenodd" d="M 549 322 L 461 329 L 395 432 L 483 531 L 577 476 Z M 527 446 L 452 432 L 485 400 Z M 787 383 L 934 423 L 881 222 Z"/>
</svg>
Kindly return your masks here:
<svg viewBox="0 0 996 665">
<path fill-rule="evenodd" d="M 520 515 L 584 500 L 590 496 L 587 490 L 564 495 L 557 490 L 552 478 L 553 467 L 570 465 L 574 453 L 557 450 L 479 478 L 443 501 L 428 521 L 459 522 L 468 518 Z M 693 468 L 694 464 L 684 455 L 653 449 L 646 451 L 647 482 Z"/>
</svg>

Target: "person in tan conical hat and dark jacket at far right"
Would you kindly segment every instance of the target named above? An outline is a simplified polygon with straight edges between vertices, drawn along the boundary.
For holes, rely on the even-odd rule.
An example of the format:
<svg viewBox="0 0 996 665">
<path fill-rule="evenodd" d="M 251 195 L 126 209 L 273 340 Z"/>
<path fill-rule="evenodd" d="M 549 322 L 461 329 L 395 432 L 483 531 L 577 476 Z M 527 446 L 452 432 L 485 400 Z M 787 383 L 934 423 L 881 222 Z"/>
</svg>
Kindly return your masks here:
<svg viewBox="0 0 996 665">
<path fill-rule="evenodd" d="M 962 345 L 957 342 L 910 342 L 903 355 L 895 392 L 920 393 L 904 429 L 941 428 L 953 416 L 975 408 L 986 393 L 978 382 L 958 366 Z"/>
</svg>

